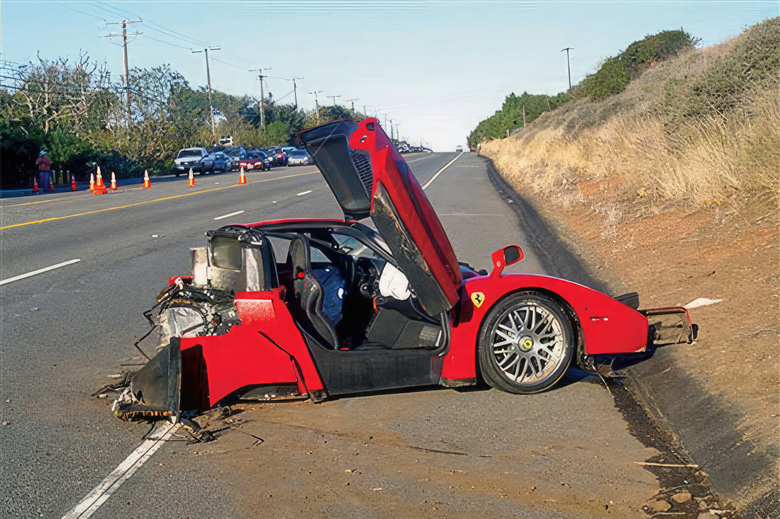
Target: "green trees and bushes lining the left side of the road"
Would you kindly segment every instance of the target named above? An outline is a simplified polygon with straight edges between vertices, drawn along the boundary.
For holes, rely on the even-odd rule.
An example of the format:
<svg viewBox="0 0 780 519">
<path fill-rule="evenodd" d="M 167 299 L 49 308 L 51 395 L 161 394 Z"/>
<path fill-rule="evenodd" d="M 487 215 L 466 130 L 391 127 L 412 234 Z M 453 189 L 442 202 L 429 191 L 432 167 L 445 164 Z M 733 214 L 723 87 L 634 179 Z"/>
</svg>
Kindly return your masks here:
<svg viewBox="0 0 780 519">
<path fill-rule="evenodd" d="M 317 123 L 314 111 L 278 103 L 268 94 L 263 131 L 261 100 L 212 90 L 218 109 L 212 134 L 207 91 L 191 87 L 170 65 L 131 69 L 129 87 L 87 55 L 0 62 L 0 69 L 3 188 L 29 184 L 40 150 L 48 152 L 52 169 L 68 170 L 78 180 L 94 172 L 95 164 L 127 178 L 145 169 L 168 174 L 178 150 L 211 148 L 223 135 L 247 149 L 268 147 Z M 319 110 L 320 122 L 350 116 L 362 118 L 339 105 Z"/>
</svg>

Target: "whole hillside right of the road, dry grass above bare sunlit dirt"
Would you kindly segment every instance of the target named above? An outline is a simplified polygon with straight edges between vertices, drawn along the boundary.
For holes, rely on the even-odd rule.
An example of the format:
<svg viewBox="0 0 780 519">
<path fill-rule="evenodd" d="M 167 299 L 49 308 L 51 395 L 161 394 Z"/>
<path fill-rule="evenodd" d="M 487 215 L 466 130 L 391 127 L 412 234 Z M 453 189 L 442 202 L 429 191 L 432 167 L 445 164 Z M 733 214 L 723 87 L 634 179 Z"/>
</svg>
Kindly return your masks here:
<svg viewBox="0 0 780 519">
<path fill-rule="evenodd" d="M 673 350 L 743 433 L 778 459 L 780 18 L 655 64 L 621 94 L 580 99 L 482 147 L 594 268 L 648 306 L 692 310 Z M 776 474 L 776 472 L 775 472 Z M 769 485 L 776 485 L 777 482 Z M 771 491 L 745 489 L 737 504 Z"/>
</svg>

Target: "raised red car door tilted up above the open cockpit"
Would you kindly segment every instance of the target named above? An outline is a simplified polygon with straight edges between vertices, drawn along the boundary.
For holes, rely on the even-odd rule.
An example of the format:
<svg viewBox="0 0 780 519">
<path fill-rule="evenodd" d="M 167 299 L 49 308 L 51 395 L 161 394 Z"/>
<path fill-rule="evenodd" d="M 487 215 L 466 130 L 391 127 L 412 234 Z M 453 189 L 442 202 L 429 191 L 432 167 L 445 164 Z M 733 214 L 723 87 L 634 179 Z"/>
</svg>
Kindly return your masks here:
<svg viewBox="0 0 780 519">
<path fill-rule="evenodd" d="M 375 118 L 328 122 L 297 134 L 347 220 L 371 217 L 431 316 L 459 300 L 460 267 L 409 164 Z"/>
</svg>

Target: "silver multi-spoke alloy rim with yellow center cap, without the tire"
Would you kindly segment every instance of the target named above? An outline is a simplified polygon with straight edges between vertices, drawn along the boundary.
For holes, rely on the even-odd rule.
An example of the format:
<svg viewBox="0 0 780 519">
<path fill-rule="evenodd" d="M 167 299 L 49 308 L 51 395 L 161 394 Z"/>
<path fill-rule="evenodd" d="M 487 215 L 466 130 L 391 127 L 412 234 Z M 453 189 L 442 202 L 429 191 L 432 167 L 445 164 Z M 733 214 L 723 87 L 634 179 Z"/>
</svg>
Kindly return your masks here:
<svg viewBox="0 0 780 519">
<path fill-rule="evenodd" d="M 566 360 L 560 320 L 533 301 L 506 310 L 491 330 L 490 344 L 496 367 L 518 384 L 539 383 Z"/>
</svg>

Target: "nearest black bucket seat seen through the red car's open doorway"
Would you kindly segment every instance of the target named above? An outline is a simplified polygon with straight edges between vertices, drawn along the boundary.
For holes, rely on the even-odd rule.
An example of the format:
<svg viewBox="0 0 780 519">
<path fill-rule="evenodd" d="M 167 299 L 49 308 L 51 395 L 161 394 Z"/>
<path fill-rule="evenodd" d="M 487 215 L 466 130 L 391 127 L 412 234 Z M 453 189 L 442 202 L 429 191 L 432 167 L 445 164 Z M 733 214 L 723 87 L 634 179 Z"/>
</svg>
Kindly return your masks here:
<svg viewBox="0 0 780 519">
<path fill-rule="evenodd" d="M 311 268 L 309 238 L 305 235 L 296 235 L 293 238 L 287 263 L 293 268 L 293 293 L 304 328 L 324 340 L 324 345 L 339 349 L 339 336 L 335 326 L 322 310 L 324 290 Z"/>
</svg>

